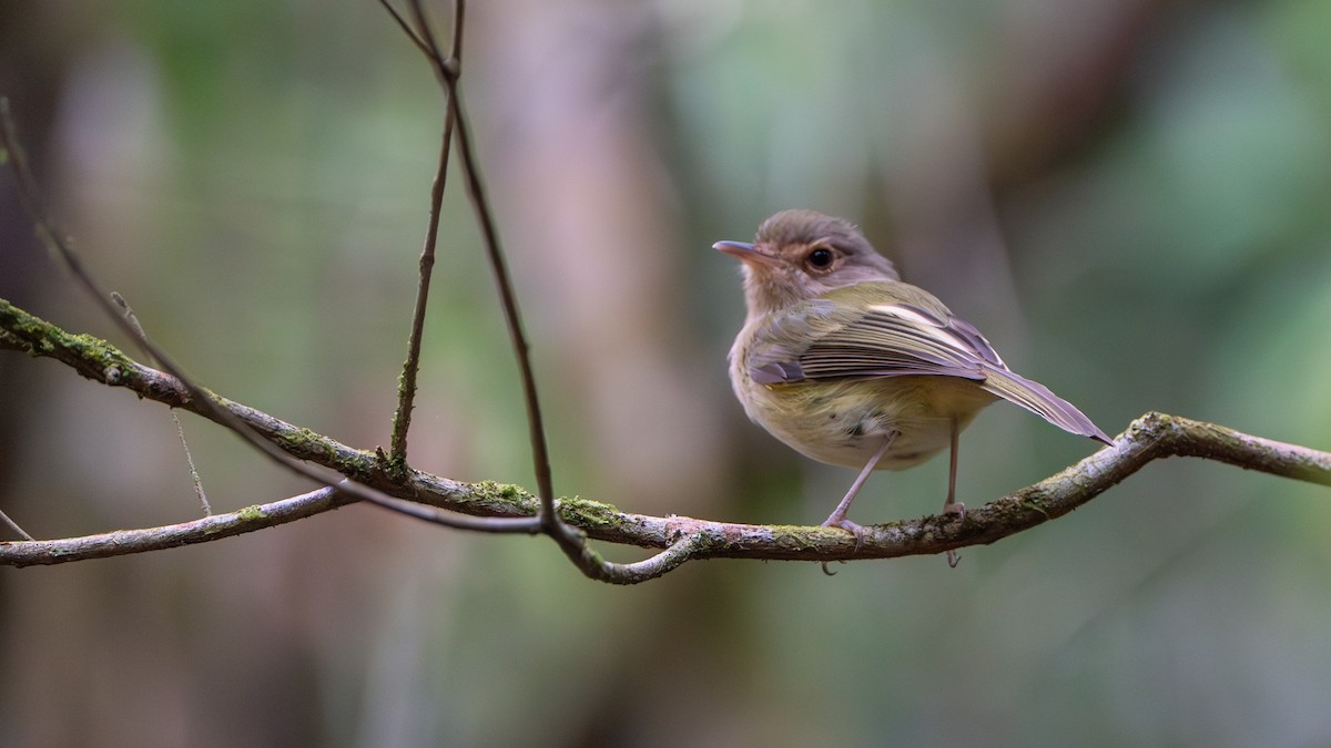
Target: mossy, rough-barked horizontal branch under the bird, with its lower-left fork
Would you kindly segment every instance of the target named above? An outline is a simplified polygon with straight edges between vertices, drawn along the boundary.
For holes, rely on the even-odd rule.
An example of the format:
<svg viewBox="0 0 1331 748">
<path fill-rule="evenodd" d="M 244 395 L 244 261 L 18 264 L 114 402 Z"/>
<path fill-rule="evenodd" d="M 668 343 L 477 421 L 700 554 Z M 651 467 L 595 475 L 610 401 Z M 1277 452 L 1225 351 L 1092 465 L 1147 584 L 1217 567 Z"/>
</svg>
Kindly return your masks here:
<svg viewBox="0 0 1331 748">
<path fill-rule="evenodd" d="M 105 341 L 67 333 L 4 299 L 0 299 L 0 347 L 53 358 L 98 383 L 124 387 L 144 399 L 218 421 L 206 407 L 193 402 L 174 377 L 130 359 Z M 442 510 L 530 522 L 539 512 L 536 496 L 519 486 L 488 480 L 466 483 L 414 468 L 390 475 L 374 451 L 350 447 L 226 398 L 217 397 L 214 402 L 290 457 L 335 470 L 390 496 L 413 502 L 419 510 L 417 514 Z M 655 579 L 688 560 L 699 559 L 832 562 L 941 554 L 965 546 L 989 544 L 1057 519 L 1103 494 L 1145 465 L 1169 457 L 1210 459 L 1331 486 L 1331 453 L 1263 439 L 1214 423 L 1147 413 L 1135 419 L 1114 441 L 1114 446 L 1036 484 L 970 508 L 964 519 L 954 515 L 924 516 L 865 526 L 864 542 L 858 548 L 848 532 L 819 526 L 650 516 L 579 498 L 559 500 L 558 512 L 564 522 L 591 539 L 662 550 L 639 563 L 612 564 L 600 559 L 595 550 L 584 548 L 586 558 L 580 566 L 596 570 L 591 576 L 632 584 Z M 165 527 L 55 540 L 5 542 L 0 543 L 0 564 L 55 564 L 204 543 L 313 516 L 355 500 L 335 488 L 319 488 Z M 535 524 L 530 527 L 532 531 L 536 528 Z"/>
</svg>

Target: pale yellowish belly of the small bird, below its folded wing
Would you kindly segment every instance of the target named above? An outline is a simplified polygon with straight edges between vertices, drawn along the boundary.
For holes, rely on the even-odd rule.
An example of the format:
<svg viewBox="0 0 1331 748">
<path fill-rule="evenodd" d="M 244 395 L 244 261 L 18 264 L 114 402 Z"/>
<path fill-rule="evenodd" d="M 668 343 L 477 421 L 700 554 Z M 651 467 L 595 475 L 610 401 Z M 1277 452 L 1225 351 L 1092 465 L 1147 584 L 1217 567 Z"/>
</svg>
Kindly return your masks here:
<svg viewBox="0 0 1331 748">
<path fill-rule="evenodd" d="M 751 387 L 749 418 L 787 446 L 819 462 L 864 467 L 896 434 L 877 470 L 925 462 L 952 443 L 994 395 L 956 377 L 880 377 Z"/>
</svg>

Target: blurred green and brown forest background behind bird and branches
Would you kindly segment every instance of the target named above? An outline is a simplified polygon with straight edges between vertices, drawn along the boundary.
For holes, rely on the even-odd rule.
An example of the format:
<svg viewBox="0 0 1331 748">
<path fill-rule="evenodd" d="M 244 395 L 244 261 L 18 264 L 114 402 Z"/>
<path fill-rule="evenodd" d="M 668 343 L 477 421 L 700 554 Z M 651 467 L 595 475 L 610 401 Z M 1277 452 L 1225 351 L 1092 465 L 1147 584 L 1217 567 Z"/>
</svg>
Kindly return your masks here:
<svg viewBox="0 0 1331 748">
<path fill-rule="evenodd" d="M 473 3 L 465 96 L 558 490 L 825 516 L 852 471 L 744 419 L 709 249 L 793 206 L 857 220 L 1106 431 L 1158 409 L 1331 447 L 1327 39 L 1320 0 Z M 3 4 L 0 93 L 88 264 L 189 371 L 387 442 L 441 96 L 375 3 Z M 124 343 L 8 174 L 0 232 L 0 295 Z M 413 462 L 531 486 L 457 176 L 435 280 Z M 217 510 L 307 490 L 185 430 Z M 1091 449 L 994 406 L 961 495 Z M 857 519 L 936 511 L 945 474 L 876 476 Z M 0 508 L 40 536 L 200 514 L 164 409 L 15 353 Z M 0 570 L 0 745 L 1327 745 L 1328 530 L 1326 488 L 1171 461 L 956 570 L 611 588 L 543 539 L 347 507 Z"/>
</svg>

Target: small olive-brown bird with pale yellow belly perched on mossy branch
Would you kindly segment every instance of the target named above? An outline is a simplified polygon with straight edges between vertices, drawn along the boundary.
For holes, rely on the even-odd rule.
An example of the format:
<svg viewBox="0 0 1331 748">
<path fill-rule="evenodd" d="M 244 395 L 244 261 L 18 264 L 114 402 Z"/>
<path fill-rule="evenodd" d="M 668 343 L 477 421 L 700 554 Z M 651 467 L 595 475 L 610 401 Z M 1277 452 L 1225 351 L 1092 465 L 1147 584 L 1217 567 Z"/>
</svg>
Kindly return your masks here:
<svg viewBox="0 0 1331 748">
<path fill-rule="evenodd" d="M 869 475 L 917 466 L 944 449 L 944 512 L 965 518 L 956 498 L 958 435 L 998 399 L 1114 443 L 1075 406 L 1012 371 L 974 325 L 902 282 L 845 218 L 783 210 L 753 242 L 712 246 L 743 270 L 747 315 L 728 357 L 735 395 L 751 421 L 793 450 L 860 468 L 823 522 L 852 532 L 856 548 L 864 528 L 847 514 Z M 953 566 L 956 558 L 949 552 Z"/>
</svg>

